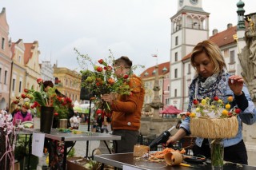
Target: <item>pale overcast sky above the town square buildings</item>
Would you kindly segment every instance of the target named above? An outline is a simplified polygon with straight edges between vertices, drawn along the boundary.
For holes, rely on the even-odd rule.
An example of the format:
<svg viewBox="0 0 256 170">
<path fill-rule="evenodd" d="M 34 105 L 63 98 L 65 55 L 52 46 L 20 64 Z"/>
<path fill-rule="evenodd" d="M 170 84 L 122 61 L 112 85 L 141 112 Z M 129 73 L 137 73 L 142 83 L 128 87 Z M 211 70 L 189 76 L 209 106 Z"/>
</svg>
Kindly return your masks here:
<svg viewBox="0 0 256 170">
<path fill-rule="evenodd" d="M 256 12 L 254 0 L 242 1 L 246 14 Z M 237 25 L 237 2 L 202 0 L 210 35 Z M 80 69 L 74 47 L 94 61 L 107 57 L 108 49 L 146 68 L 156 64 L 151 54 L 157 51 L 158 63 L 170 61 L 170 18 L 178 0 L 2 0 L 0 7 L 6 7 L 12 42 L 38 41 L 40 61 Z"/>
</svg>

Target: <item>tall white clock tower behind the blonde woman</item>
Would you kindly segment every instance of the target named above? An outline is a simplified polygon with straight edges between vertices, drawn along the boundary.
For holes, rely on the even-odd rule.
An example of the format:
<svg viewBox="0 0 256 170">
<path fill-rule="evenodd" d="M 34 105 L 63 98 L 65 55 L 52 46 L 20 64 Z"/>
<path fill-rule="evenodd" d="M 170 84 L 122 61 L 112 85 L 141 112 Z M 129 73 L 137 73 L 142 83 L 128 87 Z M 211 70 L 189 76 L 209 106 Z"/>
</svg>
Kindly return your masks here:
<svg viewBox="0 0 256 170">
<path fill-rule="evenodd" d="M 202 0 L 178 0 L 178 12 L 171 21 L 170 35 L 170 105 L 186 109 L 189 61 L 182 61 L 198 42 L 209 39 L 209 14 L 202 10 Z M 185 106 L 184 106 L 185 105 Z"/>
</svg>

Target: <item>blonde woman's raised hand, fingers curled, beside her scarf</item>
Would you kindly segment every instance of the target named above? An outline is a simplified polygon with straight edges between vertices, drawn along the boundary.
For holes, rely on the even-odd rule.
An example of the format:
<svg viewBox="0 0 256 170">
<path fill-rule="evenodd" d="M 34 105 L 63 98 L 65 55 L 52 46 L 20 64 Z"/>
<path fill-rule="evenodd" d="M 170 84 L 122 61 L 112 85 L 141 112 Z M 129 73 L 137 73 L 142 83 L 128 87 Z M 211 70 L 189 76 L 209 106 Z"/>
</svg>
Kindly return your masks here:
<svg viewBox="0 0 256 170">
<path fill-rule="evenodd" d="M 241 76 L 230 76 L 229 77 L 229 86 L 230 89 L 234 92 L 236 96 L 242 95 L 242 86 L 244 83 L 244 80 Z"/>
</svg>

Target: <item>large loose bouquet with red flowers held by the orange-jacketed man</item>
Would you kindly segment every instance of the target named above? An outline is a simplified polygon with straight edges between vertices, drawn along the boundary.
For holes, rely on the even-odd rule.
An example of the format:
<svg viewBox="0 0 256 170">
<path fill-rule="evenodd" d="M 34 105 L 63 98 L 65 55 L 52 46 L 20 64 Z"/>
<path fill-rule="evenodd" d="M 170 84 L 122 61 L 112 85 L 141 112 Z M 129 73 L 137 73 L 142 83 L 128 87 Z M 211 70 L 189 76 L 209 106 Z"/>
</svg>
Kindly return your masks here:
<svg viewBox="0 0 256 170">
<path fill-rule="evenodd" d="M 110 52 L 110 56 L 100 59 L 98 62 L 92 61 L 88 55 L 78 53 L 78 63 L 82 66 L 82 77 L 86 77 L 82 81 L 82 87 L 92 94 L 91 100 L 94 102 L 95 110 L 102 110 L 103 115 L 110 117 L 111 109 L 106 101 L 102 101 L 101 96 L 104 93 L 118 93 L 121 95 L 131 95 L 131 89 L 128 85 L 130 81 L 130 73 L 125 74 L 122 78 L 117 78 L 114 74 L 113 62 L 114 57 Z M 91 69 L 85 68 L 84 65 L 91 65 Z"/>
</svg>

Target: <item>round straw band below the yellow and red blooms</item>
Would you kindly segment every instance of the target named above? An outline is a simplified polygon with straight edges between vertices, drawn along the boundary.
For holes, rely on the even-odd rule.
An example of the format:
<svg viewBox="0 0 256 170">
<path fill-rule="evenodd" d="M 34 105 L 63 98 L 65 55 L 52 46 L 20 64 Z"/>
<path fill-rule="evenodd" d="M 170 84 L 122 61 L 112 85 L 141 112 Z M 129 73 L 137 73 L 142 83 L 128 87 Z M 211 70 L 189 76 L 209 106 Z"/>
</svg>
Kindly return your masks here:
<svg viewBox="0 0 256 170">
<path fill-rule="evenodd" d="M 237 117 L 214 119 L 209 117 L 191 118 L 190 132 L 191 135 L 202 138 L 232 138 L 238 133 L 238 119 Z"/>
</svg>

